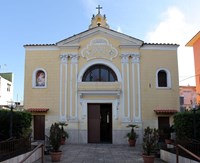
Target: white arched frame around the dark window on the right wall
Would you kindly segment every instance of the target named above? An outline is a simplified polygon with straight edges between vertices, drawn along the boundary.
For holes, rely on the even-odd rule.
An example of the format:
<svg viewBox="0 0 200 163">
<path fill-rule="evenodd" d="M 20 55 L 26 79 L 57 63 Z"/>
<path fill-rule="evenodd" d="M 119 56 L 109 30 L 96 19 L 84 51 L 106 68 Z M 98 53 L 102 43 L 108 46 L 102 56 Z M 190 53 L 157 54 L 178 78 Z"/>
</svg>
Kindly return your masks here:
<svg viewBox="0 0 200 163">
<path fill-rule="evenodd" d="M 165 71 L 166 74 L 167 74 L 167 87 L 159 87 L 158 86 L 158 72 L 161 71 L 161 70 Z M 168 69 L 159 68 L 159 69 L 156 70 L 156 88 L 157 89 L 170 89 L 170 88 L 172 88 L 171 73 Z"/>
</svg>

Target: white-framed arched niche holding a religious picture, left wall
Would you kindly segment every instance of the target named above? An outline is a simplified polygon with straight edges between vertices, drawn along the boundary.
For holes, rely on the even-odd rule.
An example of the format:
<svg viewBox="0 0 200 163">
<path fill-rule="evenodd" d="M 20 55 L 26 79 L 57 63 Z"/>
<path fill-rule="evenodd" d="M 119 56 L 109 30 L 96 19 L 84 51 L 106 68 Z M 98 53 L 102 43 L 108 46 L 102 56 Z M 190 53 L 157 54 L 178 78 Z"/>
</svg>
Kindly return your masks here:
<svg viewBox="0 0 200 163">
<path fill-rule="evenodd" d="M 47 87 L 47 73 L 43 69 L 36 69 L 33 73 L 33 87 L 46 88 Z"/>
</svg>

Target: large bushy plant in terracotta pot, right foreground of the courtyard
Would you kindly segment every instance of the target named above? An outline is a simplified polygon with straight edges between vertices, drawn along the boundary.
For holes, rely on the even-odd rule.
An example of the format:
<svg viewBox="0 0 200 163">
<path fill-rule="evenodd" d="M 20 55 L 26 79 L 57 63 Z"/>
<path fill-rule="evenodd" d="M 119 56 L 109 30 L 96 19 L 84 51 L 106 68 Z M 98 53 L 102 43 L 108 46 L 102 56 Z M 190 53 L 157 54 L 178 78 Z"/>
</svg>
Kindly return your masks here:
<svg viewBox="0 0 200 163">
<path fill-rule="evenodd" d="M 144 163 L 153 163 L 155 158 L 155 150 L 158 146 L 159 132 L 156 128 L 150 128 L 149 126 L 144 129 L 143 135 L 143 159 Z"/>
</svg>

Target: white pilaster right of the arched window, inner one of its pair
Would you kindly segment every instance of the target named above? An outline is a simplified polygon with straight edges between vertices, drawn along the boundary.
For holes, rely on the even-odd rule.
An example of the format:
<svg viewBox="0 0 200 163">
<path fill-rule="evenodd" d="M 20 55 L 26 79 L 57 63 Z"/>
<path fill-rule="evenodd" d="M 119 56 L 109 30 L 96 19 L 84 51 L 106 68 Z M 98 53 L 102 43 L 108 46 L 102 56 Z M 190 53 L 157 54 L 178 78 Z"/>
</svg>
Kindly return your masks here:
<svg viewBox="0 0 200 163">
<path fill-rule="evenodd" d="M 129 54 L 122 54 L 122 121 L 130 121 L 130 82 L 129 82 Z M 126 78 L 125 78 L 126 76 Z M 127 92 L 125 92 L 125 83 L 127 86 Z M 127 100 L 125 102 L 125 96 Z M 125 115 L 125 108 L 127 104 L 127 115 Z"/>
</svg>

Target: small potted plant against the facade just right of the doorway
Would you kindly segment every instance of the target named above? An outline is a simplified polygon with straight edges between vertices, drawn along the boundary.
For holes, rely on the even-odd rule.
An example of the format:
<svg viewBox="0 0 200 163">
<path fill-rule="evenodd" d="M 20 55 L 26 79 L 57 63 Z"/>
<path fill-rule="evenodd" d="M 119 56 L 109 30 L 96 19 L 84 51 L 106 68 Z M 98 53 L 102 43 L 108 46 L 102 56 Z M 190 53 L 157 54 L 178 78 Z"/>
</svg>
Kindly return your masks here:
<svg viewBox="0 0 200 163">
<path fill-rule="evenodd" d="M 127 133 L 126 137 L 128 138 L 129 145 L 134 147 L 135 143 L 136 143 L 136 138 L 137 138 L 137 134 L 136 134 L 134 128 L 138 128 L 138 126 L 134 125 L 134 124 L 129 124 L 126 127 L 131 128 L 131 132 Z"/>
</svg>

